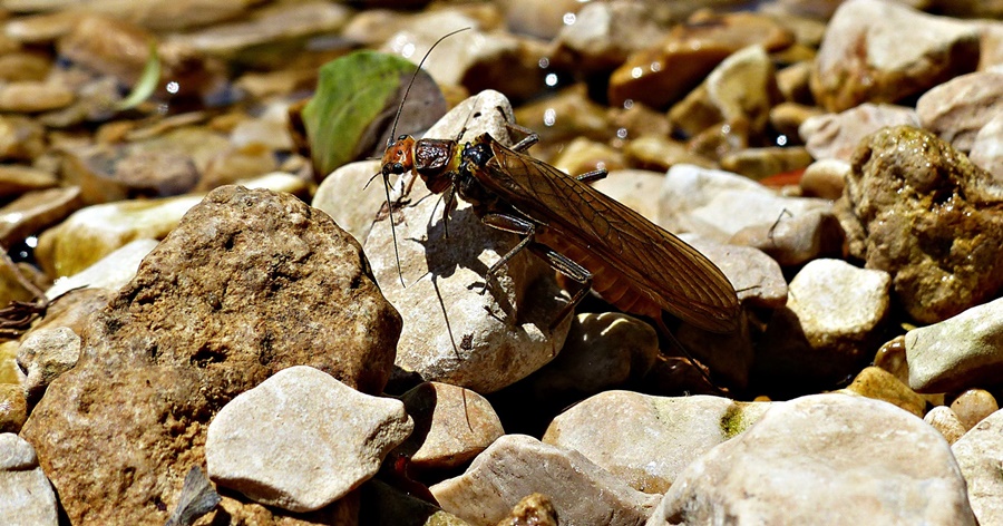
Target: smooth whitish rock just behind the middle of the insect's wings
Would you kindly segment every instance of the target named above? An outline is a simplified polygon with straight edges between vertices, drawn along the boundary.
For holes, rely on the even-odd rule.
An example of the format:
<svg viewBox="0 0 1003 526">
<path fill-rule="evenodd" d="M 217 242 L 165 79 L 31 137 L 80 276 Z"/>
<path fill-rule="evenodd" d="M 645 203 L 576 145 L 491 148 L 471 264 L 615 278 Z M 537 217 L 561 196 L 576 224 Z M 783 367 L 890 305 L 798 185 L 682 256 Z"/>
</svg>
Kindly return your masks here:
<svg viewBox="0 0 1003 526">
<path fill-rule="evenodd" d="M 692 165 L 670 168 L 659 197 L 659 226 L 722 243 L 747 226 L 831 206 L 824 199 L 781 197 L 747 177 Z"/>
</svg>

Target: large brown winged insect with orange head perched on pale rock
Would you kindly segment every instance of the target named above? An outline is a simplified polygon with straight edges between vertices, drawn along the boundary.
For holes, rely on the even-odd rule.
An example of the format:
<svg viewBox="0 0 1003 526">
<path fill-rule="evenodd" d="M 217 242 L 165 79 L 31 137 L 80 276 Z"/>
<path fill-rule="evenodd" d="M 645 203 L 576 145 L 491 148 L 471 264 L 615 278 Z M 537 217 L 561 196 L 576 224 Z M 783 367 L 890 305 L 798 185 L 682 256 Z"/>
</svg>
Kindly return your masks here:
<svg viewBox="0 0 1003 526">
<path fill-rule="evenodd" d="M 522 236 L 488 270 L 486 282 L 518 252 L 528 249 L 582 286 L 557 315 L 562 321 L 590 290 L 619 309 L 655 320 L 662 312 L 712 332 L 739 327 L 733 286 L 710 260 L 620 202 L 586 184 L 605 171 L 572 177 L 525 152 L 538 139 L 512 148 L 483 134 L 465 145 L 448 139 L 400 136 L 382 158 L 381 173 L 413 172 L 446 211 L 456 197 L 481 222 Z M 444 214 L 445 214 L 444 213 Z M 668 332 L 668 329 L 665 329 Z"/>
</svg>

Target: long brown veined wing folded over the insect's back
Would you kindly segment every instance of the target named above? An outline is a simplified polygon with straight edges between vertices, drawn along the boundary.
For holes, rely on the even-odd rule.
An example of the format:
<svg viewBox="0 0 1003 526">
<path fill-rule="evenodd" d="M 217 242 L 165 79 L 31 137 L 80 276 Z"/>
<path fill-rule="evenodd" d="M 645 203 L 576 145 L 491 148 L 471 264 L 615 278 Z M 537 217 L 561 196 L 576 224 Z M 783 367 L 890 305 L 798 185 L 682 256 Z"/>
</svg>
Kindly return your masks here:
<svg viewBox="0 0 1003 526">
<path fill-rule="evenodd" d="M 738 328 L 734 288 L 703 254 L 616 199 L 559 169 L 505 148 L 475 176 L 557 235 L 601 256 L 664 310 L 714 332 Z"/>
</svg>

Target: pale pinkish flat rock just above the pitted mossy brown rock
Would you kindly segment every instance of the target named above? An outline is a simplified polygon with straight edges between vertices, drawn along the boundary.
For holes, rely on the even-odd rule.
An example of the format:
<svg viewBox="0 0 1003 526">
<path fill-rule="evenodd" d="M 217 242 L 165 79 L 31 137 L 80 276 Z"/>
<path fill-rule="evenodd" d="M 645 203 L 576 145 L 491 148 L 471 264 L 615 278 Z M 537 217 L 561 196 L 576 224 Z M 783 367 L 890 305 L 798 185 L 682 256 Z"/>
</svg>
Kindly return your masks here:
<svg viewBox="0 0 1003 526">
<path fill-rule="evenodd" d="M 857 145 L 868 135 L 888 126 L 919 126 L 916 110 L 890 104 L 861 104 L 838 114 L 811 117 L 798 133 L 805 147 L 819 160 L 849 162 Z"/>
</svg>

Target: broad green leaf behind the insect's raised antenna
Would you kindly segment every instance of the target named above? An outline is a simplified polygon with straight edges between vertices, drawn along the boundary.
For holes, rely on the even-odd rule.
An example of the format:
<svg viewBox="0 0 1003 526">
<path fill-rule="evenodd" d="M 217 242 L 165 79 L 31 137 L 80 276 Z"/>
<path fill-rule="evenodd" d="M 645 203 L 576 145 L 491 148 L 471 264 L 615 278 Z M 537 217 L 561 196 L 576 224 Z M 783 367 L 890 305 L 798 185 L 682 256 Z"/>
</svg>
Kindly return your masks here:
<svg viewBox="0 0 1003 526">
<path fill-rule="evenodd" d="M 403 58 L 376 51 L 356 51 L 321 67 L 317 92 L 301 114 L 318 178 L 386 147 L 387 128 L 415 68 Z M 425 72 L 418 78 L 423 78 L 422 86 L 435 86 Z M 418 85 L 409 98 L 425 91 L 416 98 L 427 99 L 427 88 L 418 90 Z M 445 103 L 441 106 L 445 113 Z M 401 124 L 408 125 L 401 133 L 413 129 L 413 123 Z"/>
</svg>

